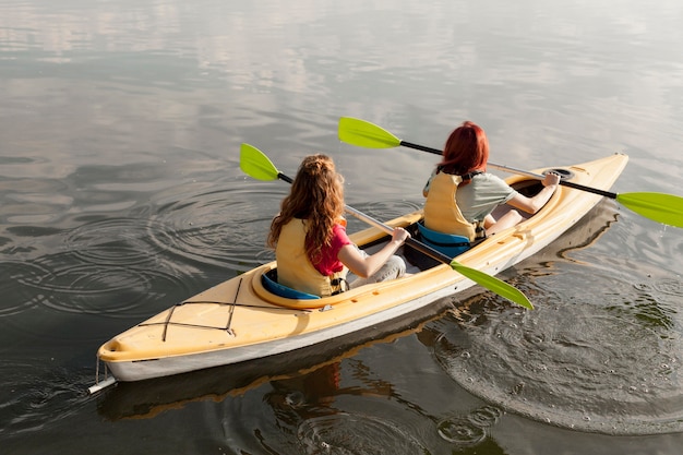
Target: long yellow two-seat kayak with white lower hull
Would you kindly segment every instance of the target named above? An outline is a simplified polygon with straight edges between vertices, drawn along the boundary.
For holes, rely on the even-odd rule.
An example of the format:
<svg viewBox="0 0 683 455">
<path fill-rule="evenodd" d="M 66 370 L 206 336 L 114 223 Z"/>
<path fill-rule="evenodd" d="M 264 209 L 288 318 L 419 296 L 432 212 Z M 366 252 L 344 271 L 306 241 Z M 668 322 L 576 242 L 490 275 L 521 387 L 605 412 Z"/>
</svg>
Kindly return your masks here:
<svg viewBox="0 0 683 455">
<path fill-rule="evenodd" d="M 568 181 L 609 190 L 627 160 L 626 155 L 614 154 L 536 171 L 553 170 Z M 542 188 L 537 179 L 525 176 L 510 177 L 506 182 L 527 195 Z M 496 275 L 547 247 L 601 199 L 600 194 L 559 187 L 537 214 L 487 238 L 459 254 L 457 261 Z M 416 226 L 422 217 L 419 209 L 386 225 L 404 227 L 417 236 Z M 369 250 L 381 248 L 388 239 L 375 226 L 349 237 Z M 400 251 L 408 264 L 406 276 L 314 299 L 292 298 L 274 288 L 268 277 L 277 270 L 275 262 L 257 266 L 173 304 L 101 345 L 97 351 L 96 382 L 100 379 L 100 363 L 109 383 L 133 382 L 263 359 L 316 345 L 324 349 L 324 342 L 372 331 L 476 285 L 448 264 L 416 261 L 419 253 L 408 250 L 404 247 Z"/>
</svg>

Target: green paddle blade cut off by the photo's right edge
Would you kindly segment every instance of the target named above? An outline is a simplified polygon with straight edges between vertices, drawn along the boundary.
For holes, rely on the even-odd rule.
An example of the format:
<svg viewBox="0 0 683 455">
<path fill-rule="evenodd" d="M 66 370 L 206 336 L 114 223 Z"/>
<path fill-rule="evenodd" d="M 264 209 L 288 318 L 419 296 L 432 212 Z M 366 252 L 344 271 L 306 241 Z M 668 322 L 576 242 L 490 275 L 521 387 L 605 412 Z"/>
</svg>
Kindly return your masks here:
<svg viewBox="0 0 683 455">
<path fill-rule="evenodd" d="M 683 228 L 683 197 L 664 193 L 624 193 L 616 201 L 624 207 L 664 225 Z"/>
</svg>

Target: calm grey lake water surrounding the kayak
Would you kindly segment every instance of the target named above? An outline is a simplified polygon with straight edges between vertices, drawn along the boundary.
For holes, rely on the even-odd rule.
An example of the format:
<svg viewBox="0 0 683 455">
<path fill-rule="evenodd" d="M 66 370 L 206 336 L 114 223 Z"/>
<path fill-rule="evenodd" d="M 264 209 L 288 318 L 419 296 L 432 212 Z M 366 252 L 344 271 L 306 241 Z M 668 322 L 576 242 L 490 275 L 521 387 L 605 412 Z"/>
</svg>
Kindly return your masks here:
<svg viewBox="0 0 683 455">
<path fill-rule="evenodd" d="M 680 454 L 683 230 L 612 200 L 502 277 L 333 354 L 96 396 L 111 336 L 273 258 L 286 173 L 332 155 L 347 202 L 423 202 L 433 155 L 340 144 L 338 118 L 496 163 L 631 160 L 683 194 L 683 3 L 0 0 L 3 454 Z M 350 228 L 360 228 L 351 220 Z M 303 369 L 302 372 L 299 370 Z"/>
</svg>

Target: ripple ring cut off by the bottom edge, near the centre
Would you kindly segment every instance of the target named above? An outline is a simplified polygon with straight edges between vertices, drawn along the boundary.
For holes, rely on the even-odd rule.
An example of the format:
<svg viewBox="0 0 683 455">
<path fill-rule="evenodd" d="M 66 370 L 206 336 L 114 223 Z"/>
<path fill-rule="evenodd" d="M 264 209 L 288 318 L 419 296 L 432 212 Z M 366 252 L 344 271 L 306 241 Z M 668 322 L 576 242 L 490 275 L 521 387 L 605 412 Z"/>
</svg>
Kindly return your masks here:
<svg viewBox="0 0 683 455">
<path fill-rule="evenodd" d="M 333 414 L 308 419 L 297 436 L 303 453 L 315 454 L 422 454 L 427 450 L 395 424 L 374 417 Z"/>
</svg>

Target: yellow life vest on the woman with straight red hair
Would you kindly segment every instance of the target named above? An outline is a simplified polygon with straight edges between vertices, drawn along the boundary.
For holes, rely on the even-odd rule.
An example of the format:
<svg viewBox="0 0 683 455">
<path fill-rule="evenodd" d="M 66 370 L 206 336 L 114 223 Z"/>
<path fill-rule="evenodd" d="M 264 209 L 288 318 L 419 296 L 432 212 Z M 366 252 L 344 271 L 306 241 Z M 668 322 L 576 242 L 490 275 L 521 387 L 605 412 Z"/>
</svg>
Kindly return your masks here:
<svg viewBox="0 0 683 455">
<path fill-rule="evenodd" d="M 432 178 L 424 203 L 424 226 L 439 232 L 467 237 L 471 242 L 478 237 L 479 225 L 483 228 L 483 223 L 468 221 L 457 206 L 455 193 L 462 181 L 460 176 L 445 172 Z"/>
</svg>

